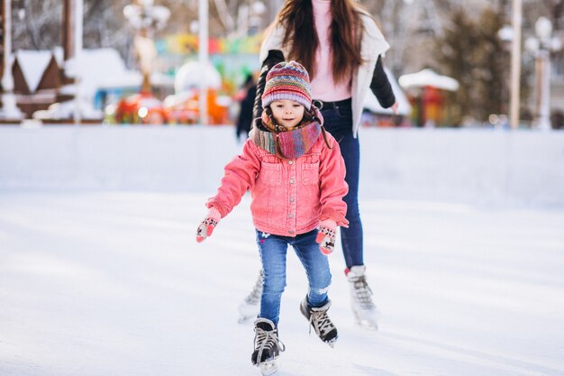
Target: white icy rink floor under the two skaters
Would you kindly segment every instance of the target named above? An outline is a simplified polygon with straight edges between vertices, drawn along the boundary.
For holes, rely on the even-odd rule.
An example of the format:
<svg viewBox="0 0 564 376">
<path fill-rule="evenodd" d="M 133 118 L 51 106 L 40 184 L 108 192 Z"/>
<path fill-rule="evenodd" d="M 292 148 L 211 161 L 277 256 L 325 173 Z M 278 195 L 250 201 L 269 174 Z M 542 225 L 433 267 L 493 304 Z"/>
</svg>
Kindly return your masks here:
<svg viewBox="0 0 564 376">
<path fill-rule="evenodd" d="M 249 198 L 197 244 L 198 193 L 0 192 L 0 375 L 255 375 L 237 305 L 259 271 Z M 564 375 L 564 212 L 361 203 L 380 330 L 331 257 L 334 349 L 288 254 L 280 376 Z"/>
</svg>

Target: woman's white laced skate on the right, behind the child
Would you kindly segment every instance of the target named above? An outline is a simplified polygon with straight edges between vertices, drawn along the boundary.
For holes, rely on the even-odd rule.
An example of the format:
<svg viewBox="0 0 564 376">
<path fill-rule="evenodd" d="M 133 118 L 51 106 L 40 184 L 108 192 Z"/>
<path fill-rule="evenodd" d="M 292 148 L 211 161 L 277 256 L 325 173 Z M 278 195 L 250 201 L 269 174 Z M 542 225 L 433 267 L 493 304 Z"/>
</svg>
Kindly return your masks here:
<svg viewBox="0 0 564 376">
<path fill-rule="evenodd" d="M 353 266 L 345 271 L 350 283 L 350 307 L 359 326 L 378 330 L 378 310 L 372 302 L 372 290 L 366 281 L 366 267 Z"/>
</svg>

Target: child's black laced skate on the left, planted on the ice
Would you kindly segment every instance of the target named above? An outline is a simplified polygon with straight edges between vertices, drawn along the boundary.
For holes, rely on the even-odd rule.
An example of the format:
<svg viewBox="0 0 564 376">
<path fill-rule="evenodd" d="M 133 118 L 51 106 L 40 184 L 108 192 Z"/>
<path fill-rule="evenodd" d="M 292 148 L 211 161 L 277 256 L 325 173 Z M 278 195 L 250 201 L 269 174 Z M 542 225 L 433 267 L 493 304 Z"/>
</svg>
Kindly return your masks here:
<svg viewBox="0 0 564 376">
<path fill-rule="evenodd" d="M 286 347 L 278 339 L 278 330 L 268 318 L 255 320 L 255 350 L 250 362 L 259 367 L 263 375 L 271 375 L 278 370 L 277 358 Z"/>
</svg>

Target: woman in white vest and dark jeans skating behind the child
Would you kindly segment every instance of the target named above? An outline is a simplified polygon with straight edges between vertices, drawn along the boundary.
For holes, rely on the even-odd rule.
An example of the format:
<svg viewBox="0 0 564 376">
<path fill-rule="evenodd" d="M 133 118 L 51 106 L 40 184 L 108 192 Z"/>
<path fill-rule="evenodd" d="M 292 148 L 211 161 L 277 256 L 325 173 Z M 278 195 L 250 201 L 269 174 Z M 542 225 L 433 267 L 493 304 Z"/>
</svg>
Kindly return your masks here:
<svg viewBox="0 0 564 376">
<path fill-rule="evenodd" d="M 260 48 L 262 69 L 254 117 L 260 116 L 260 96 L 268 69 L 280 61 L 296 60 L 310 73 L 312 97 L 325 119 L 325 128 L 339 142 L 347 169 L 348 229 L 341 245 L 350 281 L 351 307 L 359 325 L 377 329 L 376 307 L 366 280 L 362 223 L 359 216 L 359 138 L 362 104 L 370 88 L 378 102 L 397 112 L 396 97 L 382 66 L 389 48 L 374 19 L 353 0 L 287 0 L 266 32 Z M 261 275 L 241 303 L 241 318 L 256 316 Z"/>
</svg>

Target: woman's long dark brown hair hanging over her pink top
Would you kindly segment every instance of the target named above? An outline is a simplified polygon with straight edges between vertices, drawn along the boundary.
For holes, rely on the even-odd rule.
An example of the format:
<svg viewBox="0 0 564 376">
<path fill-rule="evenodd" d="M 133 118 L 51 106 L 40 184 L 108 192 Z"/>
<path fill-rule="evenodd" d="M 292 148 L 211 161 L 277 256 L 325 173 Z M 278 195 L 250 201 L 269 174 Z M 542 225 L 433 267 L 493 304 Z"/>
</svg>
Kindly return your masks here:
<svg viewBox="0 0 564 376">
<path fill-rule="evenodd" d="M 319 47 L 312 1 L 286 0 L 275 20 L 275 23 L 286 27 L 282 44 L 290 46 L 287 60 L 299 61 L 310 78 L 315 76 L 315 51 Z M 335 82 L 350 78 L 350 74 L 362 64 L 360 12 L 362 9 L 353 0 L 331 0 L 332 75 Z"/>
</svg>

